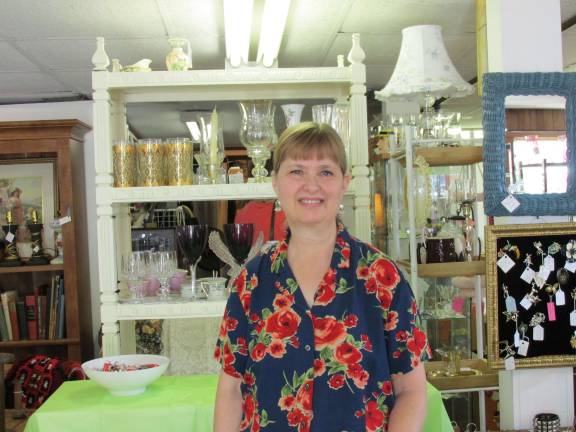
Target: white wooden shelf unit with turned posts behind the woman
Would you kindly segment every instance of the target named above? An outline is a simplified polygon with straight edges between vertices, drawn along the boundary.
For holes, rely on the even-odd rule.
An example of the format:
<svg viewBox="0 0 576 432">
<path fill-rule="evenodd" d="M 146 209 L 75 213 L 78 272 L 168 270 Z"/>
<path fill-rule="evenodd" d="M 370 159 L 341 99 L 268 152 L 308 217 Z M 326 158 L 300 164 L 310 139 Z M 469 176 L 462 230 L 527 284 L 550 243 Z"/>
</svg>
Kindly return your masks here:
<svg viewBox="0 0 576 432">
<path fill-rule="evenodd" d="M 353 36 L 356 37 L 357 36 Z M 339 56 L 341 57 L 341 56 Z M 337 67 L 240 68 L 184 72 L 92 73 L 98 269 L 101 293 L 102 350 L 120 351 L 119 321 L 143 318 L 194 318 L 221 316 L 223 304 L 120 304 L 117 261 L 130 250 L 128 205 L 131 202 L 250 200 L 274 197 L 269 183 L 114 188 L 112 142 L 125 137 L 126 104 L 171 101 L 239 101 L 250 99 L 330 99 L 350 108 L 349 195 L 353 202 L 354 234 L 370 240 L 370 188 L 368 180 L 368 128 L 366 67 L 359 43 L 348 54 L 349 64 Z M 115 252 L 115 253 L 114 253 Z"/>
</svg>

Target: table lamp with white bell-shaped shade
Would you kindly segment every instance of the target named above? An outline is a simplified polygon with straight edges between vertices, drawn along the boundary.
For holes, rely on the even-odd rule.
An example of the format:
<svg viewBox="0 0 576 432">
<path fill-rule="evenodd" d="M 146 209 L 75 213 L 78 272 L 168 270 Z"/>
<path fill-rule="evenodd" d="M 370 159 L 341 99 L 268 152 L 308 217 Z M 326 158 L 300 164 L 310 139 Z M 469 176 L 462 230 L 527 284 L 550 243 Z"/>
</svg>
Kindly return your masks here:
<svg viewBox="0 0 576 432">
<path fill-rule="evenodd" d="M 375 92 L 379 100 L 423 101 L 422 137 L 433 136 L 432 106 L 438 97 L 462 97 L 473 87 L 464 81 L 448 57 L 438 25 L 419 25 L 402 30 L 402 46 L 388 84 Z"/>
</svg>

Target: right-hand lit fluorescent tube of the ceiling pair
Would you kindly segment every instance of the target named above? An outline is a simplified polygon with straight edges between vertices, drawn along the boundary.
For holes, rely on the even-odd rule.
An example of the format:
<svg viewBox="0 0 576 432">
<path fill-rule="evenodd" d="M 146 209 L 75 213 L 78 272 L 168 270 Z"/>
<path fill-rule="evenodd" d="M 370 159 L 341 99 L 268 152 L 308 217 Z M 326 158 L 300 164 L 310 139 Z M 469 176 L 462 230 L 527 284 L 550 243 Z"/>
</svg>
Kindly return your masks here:
<svg viewBox="0 0 576 432">
<path fill-rule="evenodd" d="M 266 67 L 278 57 L 289 9 L 290 0 L 266 0 L 264 4 L 257 61 Z"/>
</svg>

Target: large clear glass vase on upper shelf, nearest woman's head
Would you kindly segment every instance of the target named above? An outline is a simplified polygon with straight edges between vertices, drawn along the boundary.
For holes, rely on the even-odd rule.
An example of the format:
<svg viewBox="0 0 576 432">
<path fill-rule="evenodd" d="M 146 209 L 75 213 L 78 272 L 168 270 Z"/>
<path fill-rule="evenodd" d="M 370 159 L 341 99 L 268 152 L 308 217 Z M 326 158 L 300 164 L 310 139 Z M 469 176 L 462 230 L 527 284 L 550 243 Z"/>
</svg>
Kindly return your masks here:
<svg viewBox="0 0 576 432">
<path fill-rule="evenodd" d="M 268 170 L 264 167 L 270 159 L 277 141 L 274 129 L 274 107 L 270 100 L 239 102 L 242 112 L 240 141 L 248 150 L 254 168 L 252 175 L 256 183 L 266 181 Z"/>
</svg>

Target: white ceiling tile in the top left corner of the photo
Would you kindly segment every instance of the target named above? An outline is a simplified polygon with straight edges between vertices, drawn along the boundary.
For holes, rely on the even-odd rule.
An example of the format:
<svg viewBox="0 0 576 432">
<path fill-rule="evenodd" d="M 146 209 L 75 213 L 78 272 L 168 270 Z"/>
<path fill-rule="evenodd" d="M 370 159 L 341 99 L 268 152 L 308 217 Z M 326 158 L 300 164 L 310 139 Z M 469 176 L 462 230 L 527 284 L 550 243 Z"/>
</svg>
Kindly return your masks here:
<svg viewBox="0 0 576 432">
<path fill-rule="evenodd" d="M 2 6 L 0 33 L 14 39 L 165 35 L 150 0 L 3 0 Z"/>
</svg>

